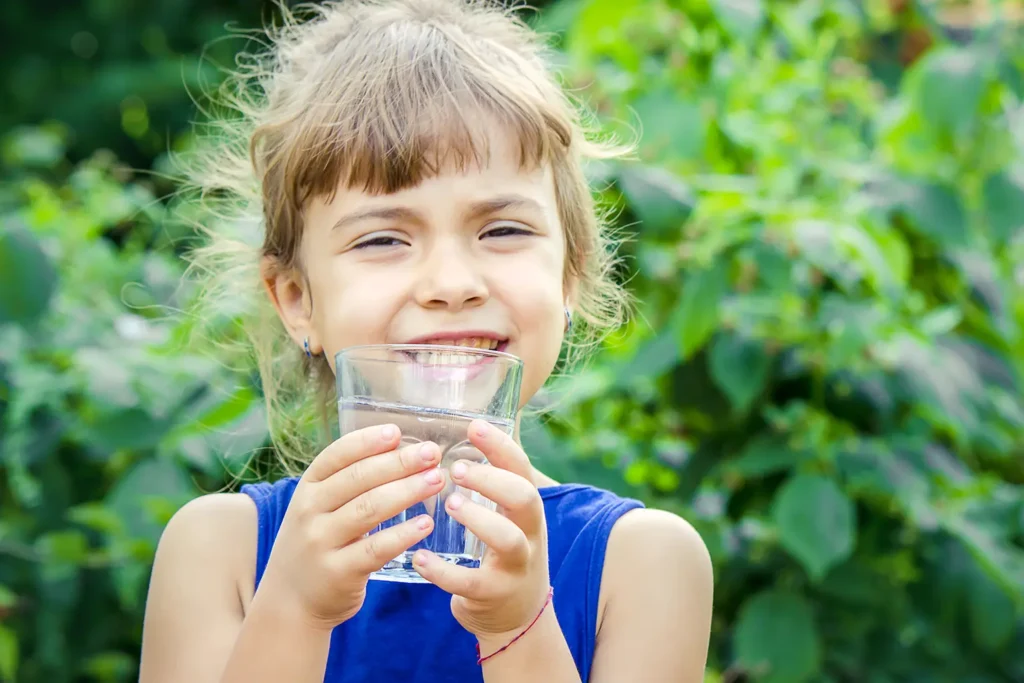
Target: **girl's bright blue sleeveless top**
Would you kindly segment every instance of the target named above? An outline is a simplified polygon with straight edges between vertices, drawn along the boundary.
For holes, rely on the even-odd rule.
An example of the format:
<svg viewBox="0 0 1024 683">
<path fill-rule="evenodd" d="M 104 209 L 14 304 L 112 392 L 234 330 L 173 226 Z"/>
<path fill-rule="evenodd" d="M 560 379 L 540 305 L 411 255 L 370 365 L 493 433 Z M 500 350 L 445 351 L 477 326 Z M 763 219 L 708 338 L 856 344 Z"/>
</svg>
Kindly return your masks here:
<svg viewBox="0 0 1024 683">
<path fill-rule="evenodd" d="M 258 512 L 257 587 L 297 483 L 288 478 L 242 487 Z M 608 535 L 620 517 L 643 504 L 583 484 L 540 492 L 558 623 L 587 683 Z M 476 638 L 455 621 L 451 599 L 432 584 L 369 582 L 362 608 L 331 635 L 325 683 L 482 683 Z"/>
</svg>

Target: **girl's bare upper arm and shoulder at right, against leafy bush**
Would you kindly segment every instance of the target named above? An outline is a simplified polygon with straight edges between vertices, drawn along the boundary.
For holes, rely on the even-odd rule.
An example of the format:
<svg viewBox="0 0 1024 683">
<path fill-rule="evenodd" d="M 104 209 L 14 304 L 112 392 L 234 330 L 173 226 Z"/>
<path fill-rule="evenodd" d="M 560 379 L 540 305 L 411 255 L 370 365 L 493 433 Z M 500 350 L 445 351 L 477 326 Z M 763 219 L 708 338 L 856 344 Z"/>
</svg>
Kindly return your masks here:
<svg viewBox="0 0 1024 683">
<path fill-rule="evenodd" d="M 624 515 L 608 539 L 601 591 L 592 683 L 703 680 L 714 577 L 689 523 L 659 510 Z"/>
</svg>

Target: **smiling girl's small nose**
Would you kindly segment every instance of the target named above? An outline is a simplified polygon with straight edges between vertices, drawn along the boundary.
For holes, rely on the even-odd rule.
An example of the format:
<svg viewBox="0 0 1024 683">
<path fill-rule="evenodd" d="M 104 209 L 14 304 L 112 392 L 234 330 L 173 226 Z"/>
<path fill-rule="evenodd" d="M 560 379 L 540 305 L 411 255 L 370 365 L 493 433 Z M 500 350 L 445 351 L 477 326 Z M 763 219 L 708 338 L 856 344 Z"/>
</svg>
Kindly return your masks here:
<svg viewBox="0 0 1024 683">
<path fill-rule="evenodd" d="M 424 308 L 459 311 L 478 306 L 489 296 L 478 259 L 453 242 L 438 243 L 423 260 L 416 300 Z"/>
</svg>

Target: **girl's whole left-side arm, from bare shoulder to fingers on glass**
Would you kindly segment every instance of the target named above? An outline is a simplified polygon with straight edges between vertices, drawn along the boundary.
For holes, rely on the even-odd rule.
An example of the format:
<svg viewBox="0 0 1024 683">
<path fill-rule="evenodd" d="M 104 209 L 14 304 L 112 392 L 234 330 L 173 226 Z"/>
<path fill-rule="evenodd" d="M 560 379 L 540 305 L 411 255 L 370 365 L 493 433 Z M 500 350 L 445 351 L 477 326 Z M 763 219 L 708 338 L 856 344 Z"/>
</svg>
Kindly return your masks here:
<svg viewBox="0 0 1024 683">
<path fill-rule="evenodd" d="M 181 508 L 157 549 L 140 683 L 323 681 L 331 632 L 362 606 L 370 573 L 433 528 L 421 515 L 365 537 L 444 485 L 423 474 L 436 444 L 395 450 L 400 437 L 394 425 L 360 429 L 313 459 L 248 609 L 256 506 L 227 494 Z"/>
</svg>

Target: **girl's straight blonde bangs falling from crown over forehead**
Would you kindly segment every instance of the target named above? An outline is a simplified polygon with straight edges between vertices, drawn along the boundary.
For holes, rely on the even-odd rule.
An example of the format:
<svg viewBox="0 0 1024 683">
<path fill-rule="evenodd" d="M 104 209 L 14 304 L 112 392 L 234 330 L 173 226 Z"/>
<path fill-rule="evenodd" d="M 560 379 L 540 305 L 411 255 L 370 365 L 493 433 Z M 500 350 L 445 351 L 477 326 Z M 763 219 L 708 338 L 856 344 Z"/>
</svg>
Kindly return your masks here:
<svg viewBox="0 0 1024 683">
<path fill-rule="evenodd" d="M 339 187 L 389 194 L 444 170 L 480 168 L 496 142 L 509 144 L 523 169 L 569 153 L 572 122 L 559 99 L 495 45 L 457 43 L 430 26 L 388 34 L 374 63 L 340 58 L 282 140 L 293 207 Z"/>
</svg>

